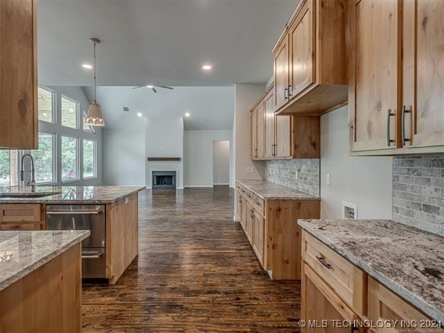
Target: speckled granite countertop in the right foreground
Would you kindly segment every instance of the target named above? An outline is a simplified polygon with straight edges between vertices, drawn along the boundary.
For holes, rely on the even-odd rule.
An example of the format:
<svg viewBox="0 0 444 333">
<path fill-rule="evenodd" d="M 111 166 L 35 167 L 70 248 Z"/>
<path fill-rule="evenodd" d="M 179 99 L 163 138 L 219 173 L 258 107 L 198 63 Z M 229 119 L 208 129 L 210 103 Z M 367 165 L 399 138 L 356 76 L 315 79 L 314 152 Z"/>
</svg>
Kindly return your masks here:
<svg viewBox="0 0 444 333">
<path fill-rule="evenodd" d="M 298 220 L 388 289 L 444 322 L 444 237 L 391 220 Z"/>
</svg>

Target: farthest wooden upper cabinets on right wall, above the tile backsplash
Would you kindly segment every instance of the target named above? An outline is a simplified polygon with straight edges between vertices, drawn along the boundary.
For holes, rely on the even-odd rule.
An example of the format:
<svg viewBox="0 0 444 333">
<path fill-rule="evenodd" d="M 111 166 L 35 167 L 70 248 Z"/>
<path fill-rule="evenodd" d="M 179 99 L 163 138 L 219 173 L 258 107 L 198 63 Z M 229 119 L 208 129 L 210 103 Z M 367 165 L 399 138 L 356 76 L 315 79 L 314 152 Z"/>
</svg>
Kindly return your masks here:
<svg viewBox="0 0 444 333">
<path fill-rule="evenodd" d="M 251 110 L 251 158 L 319 158 L 320 119 L 275 114 L 273 85 Z"/>
</svg>

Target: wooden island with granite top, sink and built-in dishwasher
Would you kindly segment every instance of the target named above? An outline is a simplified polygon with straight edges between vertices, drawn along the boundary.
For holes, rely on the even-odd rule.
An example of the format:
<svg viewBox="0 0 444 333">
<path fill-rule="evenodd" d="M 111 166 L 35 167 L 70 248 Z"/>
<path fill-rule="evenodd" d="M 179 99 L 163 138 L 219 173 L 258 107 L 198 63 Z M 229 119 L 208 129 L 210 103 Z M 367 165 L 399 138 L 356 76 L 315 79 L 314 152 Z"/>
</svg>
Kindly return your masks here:
<svg viewBox="0 0 444 333">
<path fill-rule="evenodd" d="M 37 187 L 32 191 L 31 187 L 0 187 L 0 230 L 78 228 L 78 224 L 74 222 L 71 223 L 72 226 L 62 222 L 49 225 L 48 216 L 59 214 L 60 219 L 65 219 L 66 222 L 74 221 L 80 213 L 100 213 L 104 225 L 94 228 L 93 224 L 97 227 L 97 222 L 89 223 L 94 231 L 92 236 L 84 241 L 83 251 L 87 250 L 88 242 L 98 237 L 101 250 L 94 255 L 83 253 L 83 267 L 85 272 L 90 272 L 92 270 L 89 268 L 94 266 L 94 278 L 104 278 L 114 284 L 138 253 L 137 193 L 144 188 L 51 186 Z M 88 207 L 93 207 L 96 211 Z M 63 214 L 65 216 L 61 216 Z M 103 235 L 98 235 L 99 230 L 102 230 Z M 95 246 L 95 249 L 99 246 Z M 96 267 L 99 267 L 99 273 Z"/>
</svg>

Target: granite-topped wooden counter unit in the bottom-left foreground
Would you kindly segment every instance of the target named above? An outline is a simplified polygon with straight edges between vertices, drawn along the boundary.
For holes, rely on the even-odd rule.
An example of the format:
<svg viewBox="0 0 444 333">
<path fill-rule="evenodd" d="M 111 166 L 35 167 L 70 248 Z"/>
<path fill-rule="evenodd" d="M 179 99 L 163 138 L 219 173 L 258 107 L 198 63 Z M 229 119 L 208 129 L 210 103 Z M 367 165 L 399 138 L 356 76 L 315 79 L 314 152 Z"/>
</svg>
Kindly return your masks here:
<svg viewBox="0 0 444 333">
<path fill-rule="evenodd" d="M 0 332 L 81 331 L 81 241 L 88 236 L 0 232 Z"/>
</svg>

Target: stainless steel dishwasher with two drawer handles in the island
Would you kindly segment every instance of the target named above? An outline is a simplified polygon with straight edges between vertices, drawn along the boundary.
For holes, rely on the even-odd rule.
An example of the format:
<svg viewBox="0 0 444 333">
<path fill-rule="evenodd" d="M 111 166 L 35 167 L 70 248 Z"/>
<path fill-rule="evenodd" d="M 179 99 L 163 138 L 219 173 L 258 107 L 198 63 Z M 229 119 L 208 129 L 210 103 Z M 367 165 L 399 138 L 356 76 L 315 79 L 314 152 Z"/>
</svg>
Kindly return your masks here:
<svg viewBox="0 0 444 333">
<path fill-rule="evenodd" d="M 105 205 L 46 205 L 47 230 L 89 230 L 82 242 L 83 278 L 105 278 Z"/>
</svg>

